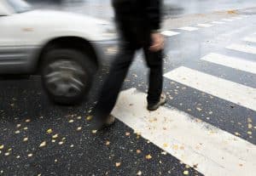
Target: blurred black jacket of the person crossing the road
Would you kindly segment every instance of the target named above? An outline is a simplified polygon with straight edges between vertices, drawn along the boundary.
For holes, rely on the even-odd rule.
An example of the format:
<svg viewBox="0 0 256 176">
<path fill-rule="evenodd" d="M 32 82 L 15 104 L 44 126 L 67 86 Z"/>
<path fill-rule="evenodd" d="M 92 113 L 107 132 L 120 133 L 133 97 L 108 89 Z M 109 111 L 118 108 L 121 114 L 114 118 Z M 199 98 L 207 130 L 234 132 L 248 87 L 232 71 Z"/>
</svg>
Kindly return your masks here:
<svg viewBox="0 0 256 176">
<path fill-rule="evenodd" d="M 160 29 L 161 0 L 113 0 L 115 20 L 126 42 L 140 48 Z"/>
</svg>

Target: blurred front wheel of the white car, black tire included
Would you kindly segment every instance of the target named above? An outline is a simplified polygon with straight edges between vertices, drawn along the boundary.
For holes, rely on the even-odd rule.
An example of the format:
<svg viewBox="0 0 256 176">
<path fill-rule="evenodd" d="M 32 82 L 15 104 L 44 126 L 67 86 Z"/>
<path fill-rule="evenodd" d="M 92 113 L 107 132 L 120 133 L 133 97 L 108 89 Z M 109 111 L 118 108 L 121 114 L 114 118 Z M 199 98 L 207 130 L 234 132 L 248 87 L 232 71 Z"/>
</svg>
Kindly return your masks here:
<svg viewBox="0 0 256 176">
<path fill-rule="evenodd" d="M 95 73 L 86 54 L 66 48 L 44 54 L 41 68 L 44 90 L 49 99 L 61 105 L 79 104 L 90 91 Z"/>
</svg>

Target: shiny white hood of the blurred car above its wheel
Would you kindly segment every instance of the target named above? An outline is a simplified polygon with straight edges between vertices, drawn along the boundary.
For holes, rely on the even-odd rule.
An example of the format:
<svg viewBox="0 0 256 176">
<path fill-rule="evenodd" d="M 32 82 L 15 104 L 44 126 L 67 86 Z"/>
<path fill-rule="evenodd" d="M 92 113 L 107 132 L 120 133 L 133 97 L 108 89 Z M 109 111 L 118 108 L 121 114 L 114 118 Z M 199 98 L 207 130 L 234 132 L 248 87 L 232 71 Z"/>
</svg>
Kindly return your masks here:
<svg viewBox="0 0 256 176">
<path fill-rule="evenodd" d="M 21 17 L 22 16 L 22 17 Z M 83 14 L 73 14 L 55 10 L 32 10 L 21 14 L 23 24 L 47 31 L 79 33 L 90 36 L 91 40 L 116 38 L 112 23 Z M 24 21 L 24 19 L 26 21 Z M 20 19 L 21 20 L 21 19 Z M 106 35 L 108 33 L 108 35 Z M 112 33 L 113 35 L 109 35 Z"/>
</svg>

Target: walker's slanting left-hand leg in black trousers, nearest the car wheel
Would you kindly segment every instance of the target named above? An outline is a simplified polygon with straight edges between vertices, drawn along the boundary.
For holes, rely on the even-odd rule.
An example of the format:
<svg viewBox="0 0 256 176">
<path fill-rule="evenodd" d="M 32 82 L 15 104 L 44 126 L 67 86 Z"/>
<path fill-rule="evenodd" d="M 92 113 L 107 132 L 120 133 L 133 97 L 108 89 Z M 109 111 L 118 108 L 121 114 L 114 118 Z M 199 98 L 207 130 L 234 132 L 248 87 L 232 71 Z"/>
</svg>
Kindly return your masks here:
<svg viewBox="0 0 256 176">
<path fill-rule="evenodd" d="M 122 84 L 125 80 L 135 49 L 128 46 L 120 48 L 119 54 L 113 60 L 109 74 L 102 86 L 94 115 L 98 120 L 105 122 L 113 110 Z"/>
</svg>

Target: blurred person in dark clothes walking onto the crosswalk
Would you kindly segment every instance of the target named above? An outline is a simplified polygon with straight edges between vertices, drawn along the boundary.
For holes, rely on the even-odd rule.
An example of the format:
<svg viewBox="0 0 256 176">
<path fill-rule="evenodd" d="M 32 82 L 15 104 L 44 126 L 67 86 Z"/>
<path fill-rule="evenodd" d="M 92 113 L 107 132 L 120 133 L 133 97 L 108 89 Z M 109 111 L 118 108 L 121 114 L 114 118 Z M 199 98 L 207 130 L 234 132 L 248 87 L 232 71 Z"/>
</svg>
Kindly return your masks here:
<svg viewBox="0 0 256 176">
<path fill-rule="evenodd" d="M 110 115 L 137 49 L 142 48 L 149 71 L 148 111 L 166 103 L 162 93 L 162 55 L 164 39 L 159 33 L 161 0 L 113 0 L 121 43 L 109 75 L 103 84 L 94 116 L 99 128 L 111 125 Z"/>
</svg>

